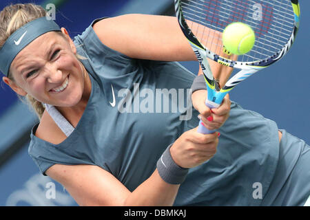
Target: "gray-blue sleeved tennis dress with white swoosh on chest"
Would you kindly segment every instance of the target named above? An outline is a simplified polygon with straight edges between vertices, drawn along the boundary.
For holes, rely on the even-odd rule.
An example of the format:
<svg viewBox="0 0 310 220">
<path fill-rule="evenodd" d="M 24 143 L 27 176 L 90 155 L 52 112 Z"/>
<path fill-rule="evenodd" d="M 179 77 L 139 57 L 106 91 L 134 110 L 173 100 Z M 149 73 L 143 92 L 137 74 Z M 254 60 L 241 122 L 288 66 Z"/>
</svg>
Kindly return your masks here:
<svg viewBox="0 0 310 220">
<path fill-rule="evenodd" d="M 132 191 L 154 172 L 165 148 L 198 125 L 198 112 L 186 102 L 195 75 L 175 62 L 120 54 L 101 43 L 92 25 L 74 43 L 87 58 L 81 62 L 92 82 L 87 107 L 73 128 L 47 105 L 68 137 L 61 144 L 45 142 L 34 135 L 36 124 L 29 154 L 43 175 L 54 164 L 92 164 Z M 185 115 L 189 120 L 181 118 Z M 235 102 L 220 133 L 216 155 L 189 170 L 174 205 L 302 206 L 306 202 L 307 144 L 286 131 L 279 144 L 275 122 Z"/>
</svg>

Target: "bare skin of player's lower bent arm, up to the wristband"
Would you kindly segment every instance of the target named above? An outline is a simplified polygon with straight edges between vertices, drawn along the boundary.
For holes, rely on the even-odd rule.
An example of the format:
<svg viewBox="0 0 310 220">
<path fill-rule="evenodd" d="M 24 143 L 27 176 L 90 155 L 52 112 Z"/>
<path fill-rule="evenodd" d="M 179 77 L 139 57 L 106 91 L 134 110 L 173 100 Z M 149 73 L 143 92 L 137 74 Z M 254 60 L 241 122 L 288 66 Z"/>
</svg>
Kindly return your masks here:
<svg viewBox="0 0 310 220">
<path fill-rule="evenodd" d="M 80 206 L 172 206 L 180 186 L 167 184 L 155 171 L 130 192 L 112 174 L 92 165 L 55 164 L 46 174 L 61 183 Z"/>
</svg>

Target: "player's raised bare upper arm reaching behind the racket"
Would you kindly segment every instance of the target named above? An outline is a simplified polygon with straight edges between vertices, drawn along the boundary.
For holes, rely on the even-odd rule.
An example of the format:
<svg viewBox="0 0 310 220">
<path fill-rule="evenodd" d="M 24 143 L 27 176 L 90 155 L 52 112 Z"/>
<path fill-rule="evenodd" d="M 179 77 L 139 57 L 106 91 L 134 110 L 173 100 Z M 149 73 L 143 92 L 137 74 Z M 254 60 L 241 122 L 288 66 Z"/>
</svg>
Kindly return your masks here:
<svg viewBox="0 0 310 220">
<path fill-rule="evenodd" d="M 194 61 L 196 56 L 176 17 L 125 14 L 93 26 L 107 47 L 132 58 L 155 61 Z"/>
</svg>

